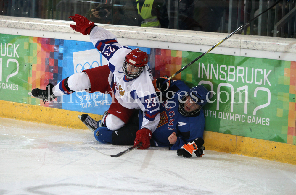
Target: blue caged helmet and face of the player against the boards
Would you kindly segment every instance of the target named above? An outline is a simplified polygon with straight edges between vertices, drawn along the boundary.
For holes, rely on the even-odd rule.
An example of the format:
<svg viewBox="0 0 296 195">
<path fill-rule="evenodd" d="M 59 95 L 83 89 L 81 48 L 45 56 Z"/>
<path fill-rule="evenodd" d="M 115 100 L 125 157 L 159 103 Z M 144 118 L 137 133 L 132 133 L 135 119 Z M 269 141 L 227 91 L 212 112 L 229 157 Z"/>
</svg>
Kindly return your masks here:
<svg viewBox="0 0 296 195">
<path fill-rule="evenodd" d="M 199 115 L 199 111 L 202 109 L 204 105 L 207 104 L 207 94 L 209 90 L 205 88 L 204 85 L 197 85 L 195 87 L 192 87 L 189 90 L 189 94 L 184 95 L 184 97 L 181 99 L 181 102 L 179 104 L 178 111 L 183 115 L 187 117 L 195 117 Z M 190 97 L 190 108 L 187 106 L 187 97 Z M 183 103 L 182 103 L 183 102 Z M 185 104 L 186 103 L 186 104 Z M 189 110 L 189 111 L 188 111 Z M 192 111 L 190 111 L 192 110 Z"/>
</svg>

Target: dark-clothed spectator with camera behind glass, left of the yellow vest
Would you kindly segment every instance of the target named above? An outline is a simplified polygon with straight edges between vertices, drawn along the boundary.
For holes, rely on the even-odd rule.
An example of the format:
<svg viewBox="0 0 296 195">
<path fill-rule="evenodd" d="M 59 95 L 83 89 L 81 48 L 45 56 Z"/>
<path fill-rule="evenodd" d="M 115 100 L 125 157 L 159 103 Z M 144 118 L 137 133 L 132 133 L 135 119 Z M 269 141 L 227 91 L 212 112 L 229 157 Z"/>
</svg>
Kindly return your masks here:
<svg viewBox="0 0 296 195">
<path fill-rule="evenodd" d="M 113 3 L 113 16 L 112 0 L 107 0 L 106 4 L 94 3 L 86 18 L 100 24 L 139 26 L 141 19 L 135 0 L 115 0 Z"/>
</svg>

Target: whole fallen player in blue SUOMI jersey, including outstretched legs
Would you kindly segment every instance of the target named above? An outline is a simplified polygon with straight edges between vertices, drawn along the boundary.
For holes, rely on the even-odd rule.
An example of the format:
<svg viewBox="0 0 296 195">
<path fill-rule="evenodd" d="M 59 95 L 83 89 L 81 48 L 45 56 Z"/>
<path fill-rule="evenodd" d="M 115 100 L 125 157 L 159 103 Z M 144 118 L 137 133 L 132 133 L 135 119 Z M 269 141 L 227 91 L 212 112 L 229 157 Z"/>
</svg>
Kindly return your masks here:
<svg viewBox="0 0 296 195">
<path fill-rule="evenodd" d="M 96 129 L 96 140 L 115 145 L 137 145 L 141 140 L 149 146 L 177 150 L 178 155 L 183 157 L 192 157 L 194 153 L 201 157 L 205 126 L 202 107 L 207 103 L 206 96 L 209 91 L 203 85 L 190 89 L 183 81 L 173 81 L 160 86 L 164 80 L 165 78 L 158 78 L 154 81 L 156 90 L 164 91 L 161 94 L 165 101 L 160 104 L 160 122 L 151 137 L 140 138 L 136 134 L 144 116 L 140 111 L 139 119 L 130 121 L 117 131 L 112 132 L 104 127 Z"/>
</svg>

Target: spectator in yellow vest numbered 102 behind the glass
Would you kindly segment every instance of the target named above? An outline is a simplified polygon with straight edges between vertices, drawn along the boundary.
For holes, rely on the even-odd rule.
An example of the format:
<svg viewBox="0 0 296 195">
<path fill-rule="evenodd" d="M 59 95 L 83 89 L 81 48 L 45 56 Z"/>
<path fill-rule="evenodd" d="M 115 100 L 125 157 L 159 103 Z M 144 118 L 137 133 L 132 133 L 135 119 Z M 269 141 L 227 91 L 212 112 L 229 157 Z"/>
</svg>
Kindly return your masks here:
<svg viewBox="0 0 296 195">
<path fill-rule="evenodd" d="M 163 0 L 136 0 L 142 27 L 168 28 L 168 11 Z"/>
</svg>

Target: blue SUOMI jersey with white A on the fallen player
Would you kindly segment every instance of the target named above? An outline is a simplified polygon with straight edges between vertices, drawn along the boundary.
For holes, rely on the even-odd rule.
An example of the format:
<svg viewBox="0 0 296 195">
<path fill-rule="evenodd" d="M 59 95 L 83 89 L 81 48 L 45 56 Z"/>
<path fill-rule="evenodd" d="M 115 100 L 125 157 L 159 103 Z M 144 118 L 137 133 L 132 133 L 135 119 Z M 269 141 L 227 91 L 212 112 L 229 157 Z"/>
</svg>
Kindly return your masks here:
<svg viewBox="0 0 296 195">
<path fill-rule="evenodd" d="M 186 117 L 178 112 L 179 100 L 189 92 L 190 88 L 183 81 L 173 81 L 167 91 L 174 92 L 171 99 L 160 103 L 160 122 L 152 133 L 151 142 L 155 146 L 170 147 L 170 150 L 178 150 L 184 144 L 202 138 L 205 128 L 204 112 L 201 110 L 196 117 Z M 171 92 L 169 92 L 172 94 Z M 178 98 L 179 97 L 179 98 Z M 139 128 L 142 126 L 143 112 L 139 113 Z M 177 142 L 171 145 L 168 137 L 175 132 Z"/>
</svg>

